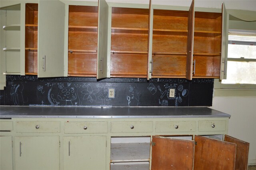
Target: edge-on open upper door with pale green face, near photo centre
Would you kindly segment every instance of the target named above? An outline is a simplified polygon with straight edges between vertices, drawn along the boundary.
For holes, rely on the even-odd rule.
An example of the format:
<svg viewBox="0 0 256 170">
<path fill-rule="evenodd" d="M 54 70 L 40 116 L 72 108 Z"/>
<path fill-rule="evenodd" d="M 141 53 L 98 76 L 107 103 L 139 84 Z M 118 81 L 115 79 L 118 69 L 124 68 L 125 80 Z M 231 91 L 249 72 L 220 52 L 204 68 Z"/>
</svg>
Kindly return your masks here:
<svg viewBox="0 0 256 170">
<path fill-rule="evenodd" d="M 152 40 L 153 40 L 153 8 L 152 0 L 149 0 L 149 15 L 148 15 L 148 70 L 147 80 L 151 79 L 153 71 L 152 59 Z"/>
</svg>

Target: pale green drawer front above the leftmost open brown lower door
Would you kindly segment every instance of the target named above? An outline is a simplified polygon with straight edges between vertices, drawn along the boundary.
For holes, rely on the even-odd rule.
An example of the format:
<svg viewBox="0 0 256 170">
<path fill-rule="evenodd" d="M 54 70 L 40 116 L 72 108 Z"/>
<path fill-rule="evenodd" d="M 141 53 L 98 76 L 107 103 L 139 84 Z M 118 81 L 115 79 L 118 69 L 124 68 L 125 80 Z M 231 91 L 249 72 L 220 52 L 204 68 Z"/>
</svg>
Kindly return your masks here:
<svg viewBox="0 0 256 170">
<path fill-rule="evenodd" d="M 156 122 L 156 132 L 195 132 L 196 121 Z"/>
</svg>

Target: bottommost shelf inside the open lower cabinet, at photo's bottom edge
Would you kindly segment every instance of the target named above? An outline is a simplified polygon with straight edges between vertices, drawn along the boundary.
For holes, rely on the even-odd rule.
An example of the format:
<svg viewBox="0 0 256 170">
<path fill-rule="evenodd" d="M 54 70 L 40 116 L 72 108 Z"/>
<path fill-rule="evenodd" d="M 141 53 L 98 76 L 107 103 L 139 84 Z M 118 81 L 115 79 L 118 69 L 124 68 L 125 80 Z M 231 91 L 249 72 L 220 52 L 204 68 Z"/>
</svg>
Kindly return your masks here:
<svg viewBox="0 0 256 170">
<path fill-rule="evenodd" d="M 148 164 L 125 164 L 125 165 L 118 165 L 118 164 L 111 164 L 111 170 L 148 170 Z"/>
</svg>

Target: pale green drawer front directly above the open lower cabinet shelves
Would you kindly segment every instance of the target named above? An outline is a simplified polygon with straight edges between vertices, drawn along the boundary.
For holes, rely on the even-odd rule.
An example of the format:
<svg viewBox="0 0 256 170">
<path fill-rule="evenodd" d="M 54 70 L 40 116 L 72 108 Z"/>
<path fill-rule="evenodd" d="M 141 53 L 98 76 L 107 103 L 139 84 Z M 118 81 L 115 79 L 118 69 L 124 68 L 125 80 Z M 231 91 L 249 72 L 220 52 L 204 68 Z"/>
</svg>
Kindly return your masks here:
<svg viewBox="0 0 256 170">
<path fill-rule="evenodd" d="M 152 132 L 153 122 L 111 122 L 112 133 Z"/>
</svg>

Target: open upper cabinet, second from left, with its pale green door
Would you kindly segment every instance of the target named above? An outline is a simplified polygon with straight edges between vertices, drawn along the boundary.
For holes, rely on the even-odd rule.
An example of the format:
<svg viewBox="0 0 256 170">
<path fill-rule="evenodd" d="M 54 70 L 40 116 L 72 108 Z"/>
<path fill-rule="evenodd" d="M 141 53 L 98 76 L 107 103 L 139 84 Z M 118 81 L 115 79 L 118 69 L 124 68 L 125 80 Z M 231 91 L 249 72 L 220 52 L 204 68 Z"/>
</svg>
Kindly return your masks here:
<svg viewBox="0 0 256 170">
<path fill-rule="evenodd" d="M 68 76 L 109 77 L 108 4 L 68 6 Z"/>
</svg>

